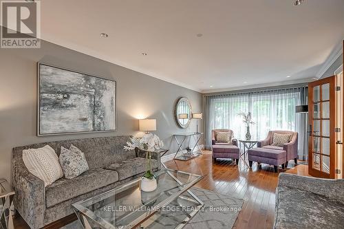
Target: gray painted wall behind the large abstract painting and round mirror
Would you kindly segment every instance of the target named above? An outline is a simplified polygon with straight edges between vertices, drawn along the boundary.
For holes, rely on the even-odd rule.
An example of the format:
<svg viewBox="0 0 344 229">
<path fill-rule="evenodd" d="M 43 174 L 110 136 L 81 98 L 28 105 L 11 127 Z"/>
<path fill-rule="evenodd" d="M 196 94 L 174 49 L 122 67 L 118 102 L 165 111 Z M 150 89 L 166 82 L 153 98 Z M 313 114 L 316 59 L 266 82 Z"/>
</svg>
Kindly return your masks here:
<svg viewBox="0 0 344 229">
<path fill-rule="evenodd" d="M 39 61 L 117 80 L 118 130 L 115 133 L 37 137 L 36 64 Z M 171 152 L 175 152 L 176 144 L 171 143 L 173 133 L 196 129 L 195 120 L 188 129 L 177 126 L 173 117 L 175 100 L 185 96 L 191 100 L 193 111 L 202 111 L 202 94 L 197 91 L 44 41 L 40 49 L 0 49 L 0 78 L 0 177 L 7 179 L 10 179 L 14 146 L 74 138 L 137 135 L 138 118 L 156 118 L 158 131 L 155 133 Z M 202 124 L 200 128 L 202 131 Z"/>
</svg>

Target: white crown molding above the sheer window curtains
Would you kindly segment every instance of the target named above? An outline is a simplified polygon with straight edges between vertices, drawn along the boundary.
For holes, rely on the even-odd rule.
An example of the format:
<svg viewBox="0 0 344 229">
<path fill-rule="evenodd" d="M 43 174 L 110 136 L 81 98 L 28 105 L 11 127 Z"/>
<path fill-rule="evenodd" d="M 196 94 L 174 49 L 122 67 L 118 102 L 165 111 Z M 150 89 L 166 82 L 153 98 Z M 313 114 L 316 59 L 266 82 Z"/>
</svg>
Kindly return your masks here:
<svg viewBox="0 0 344 229">
<path fill-rule="evenodd" d="M 254 89 L 254 88 L 259 88 L 259 87 L 275 87 L 275 86 L 281 86 L 281 85 L 292 85 L 292 84 L 297 84 L 297 83 L 310 83 L 312 81 L 314 81 L 314 78 L 303 78 L 299 80 L 287 80 L 287 81 L 281 81 L 281 82 L 276 82 L 276 83 L 263 83 L 260 85 L 247 85 L 243 87 L 230 87 L 230 88 L 224 88 L 224 89 L 203 90 L 202 94 L 226 92 L 226 91 L 237 91 L 237 90 L 244 90 L 244 89 Z"/>
</svg>

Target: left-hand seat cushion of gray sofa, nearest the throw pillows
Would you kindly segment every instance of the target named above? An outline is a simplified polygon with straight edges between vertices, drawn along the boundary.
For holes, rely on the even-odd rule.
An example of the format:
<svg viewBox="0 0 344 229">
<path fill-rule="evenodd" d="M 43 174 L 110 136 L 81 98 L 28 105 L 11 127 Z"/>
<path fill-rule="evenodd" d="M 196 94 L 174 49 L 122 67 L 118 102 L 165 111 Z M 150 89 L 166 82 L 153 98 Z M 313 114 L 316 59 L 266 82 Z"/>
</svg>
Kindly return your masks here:
<svg viewBox="0 0 344 229">
<path fill-rule="evenodd" d="M 47 208 L 118 181 L 118 173 L 94 168 L 73 179 L 61 178 L 45 189 Z"/>
</svg>

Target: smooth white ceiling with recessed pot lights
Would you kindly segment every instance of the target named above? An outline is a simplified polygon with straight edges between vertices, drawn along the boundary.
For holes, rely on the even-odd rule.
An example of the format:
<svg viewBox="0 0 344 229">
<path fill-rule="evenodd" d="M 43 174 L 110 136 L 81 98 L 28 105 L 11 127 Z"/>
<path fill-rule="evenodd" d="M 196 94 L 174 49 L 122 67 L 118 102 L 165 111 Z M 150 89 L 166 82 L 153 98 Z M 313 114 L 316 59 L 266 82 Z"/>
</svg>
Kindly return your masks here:
<svg viewBox="0 0 344 229">
<path fill-rule="evenodd" d="M 44 0 L 41 36 L 197 91 L 308 81 L 344 39 L 344 1 L 292 2 Z"/>
</svg>

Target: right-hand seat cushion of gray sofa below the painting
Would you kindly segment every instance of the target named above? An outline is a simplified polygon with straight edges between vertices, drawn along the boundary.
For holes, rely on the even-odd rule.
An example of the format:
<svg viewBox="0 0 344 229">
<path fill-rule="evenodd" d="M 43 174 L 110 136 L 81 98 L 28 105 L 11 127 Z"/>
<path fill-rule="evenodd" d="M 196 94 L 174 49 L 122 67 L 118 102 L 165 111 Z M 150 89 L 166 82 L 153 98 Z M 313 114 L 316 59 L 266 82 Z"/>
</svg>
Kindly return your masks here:
<svg viewBox="0 0 344 229">
<path fill-rule="evenodd" d="M 152 169 L 158 168 L 158 161 L 151 159 L 151 167 Z M 118 179 L 122 180 L 139 173 L 144 173 L 146 171 L 146 159 L 143 157 L 131 158 L 105 166 L 105 169 L 117 171 Z"/>
</svg>

